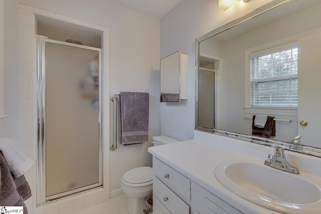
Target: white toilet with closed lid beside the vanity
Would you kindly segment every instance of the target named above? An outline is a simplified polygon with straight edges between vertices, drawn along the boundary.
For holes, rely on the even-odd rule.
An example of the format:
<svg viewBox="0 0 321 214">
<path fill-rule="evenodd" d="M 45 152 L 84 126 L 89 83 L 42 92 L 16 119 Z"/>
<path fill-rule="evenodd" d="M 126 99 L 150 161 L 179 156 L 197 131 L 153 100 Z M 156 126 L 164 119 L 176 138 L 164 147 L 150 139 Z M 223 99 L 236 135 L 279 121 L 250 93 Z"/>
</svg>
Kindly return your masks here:
<svg viewBox="0 0 321 214">
<path fill-rule="evenodd" d="M 179 142 L 174 138 L 161 135 L 152 138 L 154 146 Z M 121 177 L 121 189 L 128 196 L 128 214 L 143 214 L 145 199 L 152 194 L 152 168 L 137 167 L 125 172 Z"/>
</svg>

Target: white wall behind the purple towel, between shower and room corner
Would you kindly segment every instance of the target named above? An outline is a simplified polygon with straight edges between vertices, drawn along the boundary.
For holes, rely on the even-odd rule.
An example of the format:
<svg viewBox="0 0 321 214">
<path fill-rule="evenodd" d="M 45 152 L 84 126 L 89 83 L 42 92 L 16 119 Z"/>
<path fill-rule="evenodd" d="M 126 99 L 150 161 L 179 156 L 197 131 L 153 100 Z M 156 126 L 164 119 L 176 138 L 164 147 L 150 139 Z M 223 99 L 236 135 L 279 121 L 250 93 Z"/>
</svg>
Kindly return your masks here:
<svg viewBox="0 0 321 214">
<path fill-rule="evenodd" d="M 110 94 L 118 91 L 151 93 L 149 142 L 152 136 L 159 135 L 159 20 L 102 0 L 21 0 L 20 3 L 108 27 Z M 120 188 L 120 178 L 126 170 L 151 165 L 151 156 L 147 153 L 150 145 L 125 148 L 120 145 L 110 153 L 111 190 Z"/>
</svg>

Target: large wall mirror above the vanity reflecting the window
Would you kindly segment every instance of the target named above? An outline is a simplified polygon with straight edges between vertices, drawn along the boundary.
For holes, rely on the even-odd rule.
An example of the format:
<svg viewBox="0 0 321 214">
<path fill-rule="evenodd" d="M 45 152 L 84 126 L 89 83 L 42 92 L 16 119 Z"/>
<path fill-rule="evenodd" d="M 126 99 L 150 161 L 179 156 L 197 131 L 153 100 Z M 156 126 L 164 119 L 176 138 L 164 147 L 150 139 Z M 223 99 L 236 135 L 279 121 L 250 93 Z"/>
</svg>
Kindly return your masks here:
<svg viewBox="0 0 321 214">
<path fill-rule="evenodd" d="M 268 115 L 270 141 L 302 135 L 321 148 L 319 0 L 272 1 L 198 38 L 196 50 L 196 129 L 252 135 L 253 115 Z"/>
</svg>

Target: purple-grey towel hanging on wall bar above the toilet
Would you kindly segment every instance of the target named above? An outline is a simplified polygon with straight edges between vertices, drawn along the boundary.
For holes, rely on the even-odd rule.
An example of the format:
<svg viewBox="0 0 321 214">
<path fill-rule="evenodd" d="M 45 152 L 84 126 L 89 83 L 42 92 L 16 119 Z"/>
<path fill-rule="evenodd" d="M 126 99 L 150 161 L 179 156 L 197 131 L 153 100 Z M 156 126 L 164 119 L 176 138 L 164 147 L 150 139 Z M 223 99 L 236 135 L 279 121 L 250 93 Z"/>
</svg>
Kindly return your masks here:
<svg viewBox="0 0 321 214">
<path fill-rule="evenodd" d="M 148 141 L 149 94 L 120 92 L 121 143 Z"/>
</svg>

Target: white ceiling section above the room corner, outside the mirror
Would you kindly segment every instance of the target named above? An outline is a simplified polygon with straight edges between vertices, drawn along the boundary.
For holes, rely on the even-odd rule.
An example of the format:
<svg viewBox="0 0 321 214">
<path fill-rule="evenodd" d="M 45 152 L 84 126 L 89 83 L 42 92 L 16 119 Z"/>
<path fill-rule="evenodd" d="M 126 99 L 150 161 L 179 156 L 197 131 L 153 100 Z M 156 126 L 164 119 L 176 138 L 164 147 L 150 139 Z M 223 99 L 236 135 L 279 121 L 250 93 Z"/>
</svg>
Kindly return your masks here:
<svg viewBox="0 0 321 214">
<path fill-rule="evenodd" d="M 181 0 L 110 0 L 148 16 L 162 19 Z"/>
</svg>

